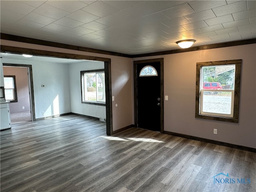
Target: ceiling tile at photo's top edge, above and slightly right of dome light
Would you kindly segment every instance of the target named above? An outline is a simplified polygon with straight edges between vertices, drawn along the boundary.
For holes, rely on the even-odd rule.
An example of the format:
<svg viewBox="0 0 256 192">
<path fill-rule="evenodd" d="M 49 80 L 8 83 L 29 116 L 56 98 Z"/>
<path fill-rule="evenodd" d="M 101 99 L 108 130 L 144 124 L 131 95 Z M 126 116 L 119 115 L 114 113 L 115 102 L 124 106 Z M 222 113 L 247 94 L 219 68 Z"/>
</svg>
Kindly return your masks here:
<svg viewBox="0 0 256 192">
<path fill-rule="evenodd" d="M 215 7 L 226 5 L 225 0 L 202 0 L 202 1 L 192 1 L 188 3 L 196 12 L 212 9 Z"/>
</svg>

